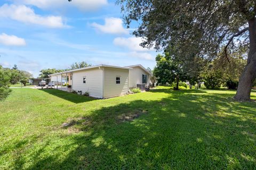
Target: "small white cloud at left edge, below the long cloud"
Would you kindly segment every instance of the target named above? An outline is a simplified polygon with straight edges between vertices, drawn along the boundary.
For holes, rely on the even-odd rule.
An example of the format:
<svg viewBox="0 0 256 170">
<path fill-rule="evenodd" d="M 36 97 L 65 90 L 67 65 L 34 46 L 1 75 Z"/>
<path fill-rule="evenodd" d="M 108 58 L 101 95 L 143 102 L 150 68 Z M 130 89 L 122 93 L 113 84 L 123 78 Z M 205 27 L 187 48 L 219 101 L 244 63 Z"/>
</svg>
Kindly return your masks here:
<svg viewBox="0 0 256 170">
<path fill-rule="evenodd" d="M 25 46 L 26 41 L 23 38 L 19 38 L 14 35 L 7 35 L 6 33 L 2 33 L 0 35 L 0 44 L 4 44 L 6 46 Z"/>
</svg>

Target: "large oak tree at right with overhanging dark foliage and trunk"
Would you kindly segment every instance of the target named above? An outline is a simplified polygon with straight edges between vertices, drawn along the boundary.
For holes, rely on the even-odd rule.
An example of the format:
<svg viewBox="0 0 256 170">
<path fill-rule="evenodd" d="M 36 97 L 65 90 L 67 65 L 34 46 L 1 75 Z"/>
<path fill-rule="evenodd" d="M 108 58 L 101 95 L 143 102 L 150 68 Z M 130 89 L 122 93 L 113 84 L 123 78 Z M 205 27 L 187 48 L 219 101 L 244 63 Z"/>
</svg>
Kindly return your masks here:
<svg viewBox="0 0 256 170">
<path fill-rule="evenodd" d="M 255 1 L 118 0 L 117 3 L 122 7 L 127 27 L 138 21 L 139 28 L 133 35 L 144 38 L 142 47 L 161 50 L 174 46 L 187 60 L 193 56 L 212 60 L 219 53 L 228 60 L 228 54 L 239 46 L 249 46 L 235 99 L 250 100 L 256 78 Z"/>
</svg>

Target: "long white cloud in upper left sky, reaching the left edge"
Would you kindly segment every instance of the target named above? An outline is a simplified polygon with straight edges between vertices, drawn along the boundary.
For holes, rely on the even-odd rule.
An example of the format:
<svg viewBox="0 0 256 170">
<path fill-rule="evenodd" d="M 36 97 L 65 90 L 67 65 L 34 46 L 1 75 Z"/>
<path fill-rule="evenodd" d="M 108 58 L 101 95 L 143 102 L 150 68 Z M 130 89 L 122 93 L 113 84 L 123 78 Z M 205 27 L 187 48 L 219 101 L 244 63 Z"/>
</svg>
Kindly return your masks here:
<svg viewBox="0 0 256 170">
<path fill-rule="evenodd" d="M 8 5 L 0 7 L 0 17 L 10 18 L 23 23 L 44 25 L 51 28 L 67 27 L 61 16 L 41 16 L 35 14 L 34 10 L 25 5 Z"/>
</svg>

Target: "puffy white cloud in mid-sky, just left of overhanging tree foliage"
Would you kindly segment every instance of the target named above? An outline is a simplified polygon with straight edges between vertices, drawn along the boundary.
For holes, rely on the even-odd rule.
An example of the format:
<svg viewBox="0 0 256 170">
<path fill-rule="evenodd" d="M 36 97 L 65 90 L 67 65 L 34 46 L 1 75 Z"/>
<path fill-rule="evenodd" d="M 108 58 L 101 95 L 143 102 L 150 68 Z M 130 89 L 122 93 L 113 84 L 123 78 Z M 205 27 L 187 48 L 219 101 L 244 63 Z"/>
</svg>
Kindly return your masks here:
<svg viewBox="0 0 256 170">
<path fill-rule="evenodd" d="M 112 34 L 129 33 L 127 29 L 124 29 L 123 21 L 119 18 L 106 18 L 104 25 L 101 25 L 95 22 L 93 22 L 91 25 L 95 29 L 103 33 L 112 33 Z"/>
</svg>

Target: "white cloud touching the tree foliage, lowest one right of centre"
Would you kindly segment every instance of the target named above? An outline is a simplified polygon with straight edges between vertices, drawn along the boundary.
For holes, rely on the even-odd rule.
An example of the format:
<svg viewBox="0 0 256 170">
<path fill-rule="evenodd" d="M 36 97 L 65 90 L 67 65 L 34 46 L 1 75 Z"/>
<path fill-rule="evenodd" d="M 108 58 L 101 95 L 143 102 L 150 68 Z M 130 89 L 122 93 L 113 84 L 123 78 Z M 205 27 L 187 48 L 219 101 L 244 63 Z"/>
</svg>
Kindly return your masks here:
<svg viewBox="0 0 256 170">
<path fill-rule="evenodd" d="M 140 43 L 142 43 L 142 39 L 139 37 L 129 37 L 129 38 L 117 37 L 114 39 L 114 45 L 123 47 L 123 48 L 128 48 L 133 51 L 146 52 L 149 50 L 153 50 L 153 49 L 141 47 Z"/>
</svg>

